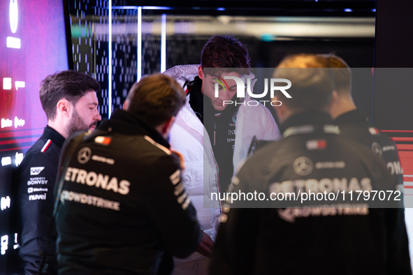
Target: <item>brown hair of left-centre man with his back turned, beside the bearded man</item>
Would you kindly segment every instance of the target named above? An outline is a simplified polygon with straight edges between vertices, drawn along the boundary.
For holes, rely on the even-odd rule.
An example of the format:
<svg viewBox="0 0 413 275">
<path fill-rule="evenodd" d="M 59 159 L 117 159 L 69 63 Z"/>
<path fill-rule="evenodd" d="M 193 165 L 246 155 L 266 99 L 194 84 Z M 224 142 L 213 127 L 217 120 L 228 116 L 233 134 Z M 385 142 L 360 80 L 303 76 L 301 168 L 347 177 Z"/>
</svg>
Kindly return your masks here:
<svg viewBox="0 0 413 275">
<path fill-rule="evenodd" d="M 173 78 L 161 73 L 143 77 L 129 91 L 126 111 L 146 124 L 159 126 L 175 117 L 185 104 L 185 91 Z"/>
</svg>

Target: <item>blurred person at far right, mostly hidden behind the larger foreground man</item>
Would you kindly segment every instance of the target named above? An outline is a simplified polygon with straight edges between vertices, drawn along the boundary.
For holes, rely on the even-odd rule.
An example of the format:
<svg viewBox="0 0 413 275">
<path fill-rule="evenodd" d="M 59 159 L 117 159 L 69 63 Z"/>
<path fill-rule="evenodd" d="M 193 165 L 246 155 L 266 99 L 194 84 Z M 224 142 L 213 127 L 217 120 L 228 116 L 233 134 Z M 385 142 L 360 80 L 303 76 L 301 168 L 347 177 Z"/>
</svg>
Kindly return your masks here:
<svg viewBox="0 0 413 275">
<path fill-rule="evenodd" d="M 352 70 L 347 63 L 335 54 L 321 54 L 320 56 L 327 59 L 330 68 L 333 69 L 334 86 L 338 97 L 330 108 L 330 114 L 334 119 L 334 124 L 340 128 L 340 135 L 360 142 L 383 158 L 396 184 L 396 189 L 402 192 L 401 199 L 403 200 L 403 169 L 400 165 L 396 143 L 372 126 L 361 110 L 357 110 L 352 98 Z M 392 251 L 399 251 L 399 253 L 391 253 L 389 257 L 394 257 L 391 259 L 393 262 L 407 265 L 410 262 L 410 255 L 405 209 L 389 209 L 389 211 L 396 210 L 398 215 L 393 221 L 393 230 L 397 230 L 398 235 L 390 236 L 393 237 L 390 245 L 394 246 L 391 248 Z M 392 233 L 393 230 L 389 232 Z"/>
</svg>

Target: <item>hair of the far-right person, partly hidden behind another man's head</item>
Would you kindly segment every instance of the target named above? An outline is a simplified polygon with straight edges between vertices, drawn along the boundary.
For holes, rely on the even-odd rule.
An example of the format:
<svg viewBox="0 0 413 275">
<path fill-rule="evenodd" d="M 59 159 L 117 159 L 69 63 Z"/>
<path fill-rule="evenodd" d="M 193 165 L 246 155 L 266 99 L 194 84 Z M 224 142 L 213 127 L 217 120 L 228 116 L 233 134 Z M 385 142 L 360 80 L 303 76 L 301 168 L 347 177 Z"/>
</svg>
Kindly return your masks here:
<svg viewBox="0 0 413 275">
<path fill-rule="evenodd" d="M 320 54 L 327 59 L 330 68 L 333 68 L 335 91 L 339 95 L 352 94 L 352 70 L 349 65 L 335 54 Z"/>
</svg>

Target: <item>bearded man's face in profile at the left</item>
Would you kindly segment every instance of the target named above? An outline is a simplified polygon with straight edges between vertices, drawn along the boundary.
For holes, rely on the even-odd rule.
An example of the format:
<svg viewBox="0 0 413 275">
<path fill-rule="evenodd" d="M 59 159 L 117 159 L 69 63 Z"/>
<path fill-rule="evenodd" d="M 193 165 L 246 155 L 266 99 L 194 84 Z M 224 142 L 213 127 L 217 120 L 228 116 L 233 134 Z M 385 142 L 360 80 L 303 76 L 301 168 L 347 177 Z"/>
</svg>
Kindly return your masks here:
<svg viewBox="0 0 413 275">
<path fill-rule="evenodd" d="M 78 131 L 94 131 L 101 120 L 98 111 L 98 98 L 95 91 L 89 91 L 76 102 L 68 125 L 69 135 Z"/>
</svg>

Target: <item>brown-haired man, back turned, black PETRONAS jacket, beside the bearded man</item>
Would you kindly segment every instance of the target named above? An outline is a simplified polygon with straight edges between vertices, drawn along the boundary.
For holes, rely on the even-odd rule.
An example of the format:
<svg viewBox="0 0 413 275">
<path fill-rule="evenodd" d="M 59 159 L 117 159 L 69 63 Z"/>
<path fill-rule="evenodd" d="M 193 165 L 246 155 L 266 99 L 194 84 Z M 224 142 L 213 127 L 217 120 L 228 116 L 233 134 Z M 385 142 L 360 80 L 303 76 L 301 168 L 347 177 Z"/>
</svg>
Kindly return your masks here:
<svg viewBox="0 0 413 275">
<path fill-rule="evenodd" d="M 185 94 L 166 75 L 135 84 L 126 110 L 68 141 L 56 224 L 59 274 L 170 274 L 201 241 L 180 158 L 166 141 Z"/>
</svg>

